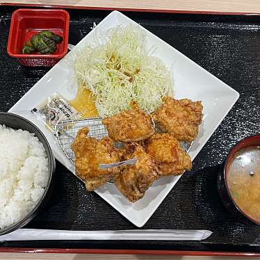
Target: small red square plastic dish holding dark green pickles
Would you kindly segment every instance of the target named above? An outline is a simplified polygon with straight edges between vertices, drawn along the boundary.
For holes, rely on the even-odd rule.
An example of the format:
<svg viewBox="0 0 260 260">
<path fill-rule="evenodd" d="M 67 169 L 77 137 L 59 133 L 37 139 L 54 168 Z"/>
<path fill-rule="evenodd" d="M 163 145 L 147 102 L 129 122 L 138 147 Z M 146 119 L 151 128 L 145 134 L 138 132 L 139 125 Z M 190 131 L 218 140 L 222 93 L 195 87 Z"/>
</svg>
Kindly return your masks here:
<svg viewBox="0 0 260 260">
<path fill-rule="evenodd" d="M 53 66 L 67 54 L 70 15 L 60 9 L 17 9 L 12 15 L 7 52 L 24 66 Z M 54 54 L 22 54 L 27 40 L 43 30 L 63 37 Z"/>
</svg>

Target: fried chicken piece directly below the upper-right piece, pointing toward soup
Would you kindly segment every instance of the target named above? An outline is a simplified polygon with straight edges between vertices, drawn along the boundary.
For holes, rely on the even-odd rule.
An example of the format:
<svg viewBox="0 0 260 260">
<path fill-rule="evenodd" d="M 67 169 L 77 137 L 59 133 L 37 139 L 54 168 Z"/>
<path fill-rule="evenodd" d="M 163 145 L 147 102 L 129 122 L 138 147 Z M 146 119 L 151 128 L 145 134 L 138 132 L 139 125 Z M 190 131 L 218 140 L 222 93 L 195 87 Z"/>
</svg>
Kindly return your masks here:
<svg viewBox="0 0 260 260">
<path fill-rule="evenodd" d="M 156 133 L 145 142 L 146 152 L 156 161 L 161 177 L 179 175 L 191 170 L 190 156 L 180 147 L 179 142 L 170 133 Z"/>
</svg>

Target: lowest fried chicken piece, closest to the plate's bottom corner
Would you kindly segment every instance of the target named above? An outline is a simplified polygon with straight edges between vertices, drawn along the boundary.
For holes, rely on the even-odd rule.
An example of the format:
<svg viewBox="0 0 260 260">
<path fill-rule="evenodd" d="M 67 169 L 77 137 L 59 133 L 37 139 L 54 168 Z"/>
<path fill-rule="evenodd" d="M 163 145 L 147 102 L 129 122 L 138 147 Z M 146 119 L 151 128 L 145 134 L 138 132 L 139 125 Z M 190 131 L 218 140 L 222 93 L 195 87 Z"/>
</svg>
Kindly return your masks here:
<svg viewBox="0 0 260 260">
<path fill-rule="evenodd" d="M 157 179 L 156 165 L 152 156 L 149 156 L 137 143 L 127 145 L 123 154 L 124 160 L 136 157 L 135 165 L 124 165 L 121 173 L 115 178 L 118 190 L 130 202 L 136 202 L 145 195 L 145 190 Z"/>
</svg>

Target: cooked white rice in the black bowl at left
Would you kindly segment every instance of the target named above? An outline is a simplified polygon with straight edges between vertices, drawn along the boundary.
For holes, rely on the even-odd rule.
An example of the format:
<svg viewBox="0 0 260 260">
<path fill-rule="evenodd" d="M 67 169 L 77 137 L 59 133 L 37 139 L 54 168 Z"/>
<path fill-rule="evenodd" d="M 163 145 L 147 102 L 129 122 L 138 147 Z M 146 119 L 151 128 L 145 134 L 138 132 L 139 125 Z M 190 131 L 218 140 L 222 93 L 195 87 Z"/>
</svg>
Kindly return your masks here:
<svg viewBox="0 0 260 260">
<path fill-rule="evenodd" d="M 38 138 L 0 124 L 0 229 L 29 215 L 48 179 L 47 154 Z"/>
</svg>

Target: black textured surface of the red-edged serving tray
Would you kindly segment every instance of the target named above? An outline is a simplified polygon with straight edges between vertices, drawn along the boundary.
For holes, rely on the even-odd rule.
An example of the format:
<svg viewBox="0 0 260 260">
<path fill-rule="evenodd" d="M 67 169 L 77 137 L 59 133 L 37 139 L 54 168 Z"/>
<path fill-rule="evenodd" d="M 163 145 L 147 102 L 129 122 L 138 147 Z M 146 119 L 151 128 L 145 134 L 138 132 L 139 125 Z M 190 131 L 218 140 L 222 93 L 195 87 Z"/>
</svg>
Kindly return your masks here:
<svg viewBox="0 0 260 260">
<path fill-rule="evenodd" d="M 8 56 L 10 17 L 15 7 L 0 8 L 0 111 L 8 111 L 50 68 L 23 67 Z M 69 42 L 76 44 L 110 11 L 68 10 Z M 260 252 L 260 227 L 236 220 L 218 196 L 218 170 L 238 140 L 259 133 L 260 17 L 125 13 L 159 38 L 237 90 L 241 97 L 208 143 L 143 229 L 210 229 L 201 242 L 189 241 L 13 241 L 0 247 L 99 248 Z M 185 68 L 184 68 L 185 70 Z M 70 76 L 70 75 L 68 75 Z M 211 115 L 208 115 L 211 116 Z M 96 193 L 88 192 L 57 163 L 51 201 L 26 228 L 136 229 Z M 1 248 L 0 248 L 1 250 Z"/>
</svg>

